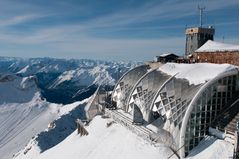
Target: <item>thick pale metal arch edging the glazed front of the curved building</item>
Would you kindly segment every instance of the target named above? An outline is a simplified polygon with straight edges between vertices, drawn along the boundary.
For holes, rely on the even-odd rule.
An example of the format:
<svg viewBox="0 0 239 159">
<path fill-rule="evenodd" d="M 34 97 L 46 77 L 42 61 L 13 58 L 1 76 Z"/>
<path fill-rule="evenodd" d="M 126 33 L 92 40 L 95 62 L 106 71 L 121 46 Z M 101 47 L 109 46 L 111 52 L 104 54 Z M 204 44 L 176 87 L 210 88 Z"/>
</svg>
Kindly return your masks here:
<svg viewBox="0 0 239 159">
<path fill-rule="evenodd" d="M 192 110 L 194 108 L 195 103 L 197 102 L 197 100 L 199 99 L 199 97 L 202 95 L 202 93 L 212 84 L 214 84 L 216 81 L 218 81 L 221 78 L 224 77 L 228 77 L 228 76 L 232 76 L 232 75 L 236 75 L 238 74 L 238 69 L 235 70 L 231 70 L 231 71 L 227 71 L 227 72 L 223 72 L 219 75 L 217 75 L 215 78 L 211 79 L 210 81 L 208 81 L 207 83 L 205 83 L 199 90 L 198 92 L 195 94 L 195 96 L 193 97 L 192 101 L 190 102 L 186 112 L 185 112 L 185 116 L 182 120 L 182 127 L 180 130 L 180 138 L 179 138 L 179 147 L 182 147 L 179 151 L 180 153 L 180 157 L 184 158 L 185 157 L 185 149 L 184 149 L 184 144 L 185 144 L 185 135 L 186 135 L 186 128 L 187 128 L 187 123 L 189 120 L 189 117 L 192 113 Z"/>
</svg>

